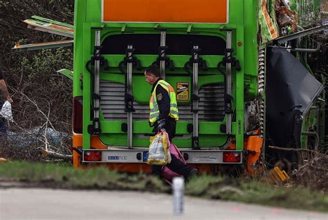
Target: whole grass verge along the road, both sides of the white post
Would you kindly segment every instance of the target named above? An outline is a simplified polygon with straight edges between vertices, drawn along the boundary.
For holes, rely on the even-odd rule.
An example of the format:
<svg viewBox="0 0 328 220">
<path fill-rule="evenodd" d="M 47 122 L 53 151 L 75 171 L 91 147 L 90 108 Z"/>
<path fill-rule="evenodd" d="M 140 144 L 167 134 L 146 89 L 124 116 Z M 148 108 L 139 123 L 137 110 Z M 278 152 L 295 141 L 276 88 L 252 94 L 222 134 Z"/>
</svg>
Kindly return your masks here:
<svg viewBox="0 0 328 220">
<path fill-rule="evenodd" d="M 75 170 L 69 163 L 28 163 L 26 161 L 0 163 L 0 182 L 1 180 L 20 181 L 26 183 L 27 186 L 51 188 L 171 192 L 171 188 L 163 181 L 147 174 L 118 173 L 104 167 Z M 266 206 L 328 211 L 328 195 L 323 192 L 296 186 L 288 188 L 272 186 L 269 183 L 242 178 L 200 175 L 186 184 L 185 194 Z"/>
</svg>

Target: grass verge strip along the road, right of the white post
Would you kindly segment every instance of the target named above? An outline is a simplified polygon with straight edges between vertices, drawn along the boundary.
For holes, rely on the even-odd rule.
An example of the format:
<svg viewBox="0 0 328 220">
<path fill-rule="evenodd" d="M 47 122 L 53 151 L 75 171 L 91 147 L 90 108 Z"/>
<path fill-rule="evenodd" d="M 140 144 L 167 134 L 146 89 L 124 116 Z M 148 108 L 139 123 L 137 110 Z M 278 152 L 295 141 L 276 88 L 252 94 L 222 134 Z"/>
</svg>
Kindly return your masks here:
<svg viewBox="0 0 328 220">
<path fill-rule="evenodd" d="M 328 212 L 328 195 L 298 186 L 273 186 L 259 181 L 201 176 L 186 186 L 187 194 L 210 199 Z M 202 186 L 199 187 L 199 184 Z"/>
</svg>

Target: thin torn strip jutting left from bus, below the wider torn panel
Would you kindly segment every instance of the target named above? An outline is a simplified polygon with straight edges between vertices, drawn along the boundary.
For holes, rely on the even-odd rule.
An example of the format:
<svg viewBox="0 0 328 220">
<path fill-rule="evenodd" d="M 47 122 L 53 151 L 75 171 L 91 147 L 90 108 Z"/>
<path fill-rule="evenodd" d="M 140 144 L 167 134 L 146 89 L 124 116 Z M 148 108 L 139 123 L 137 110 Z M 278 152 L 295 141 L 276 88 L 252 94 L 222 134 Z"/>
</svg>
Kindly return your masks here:
<svg viewBox="0 0 328 220">
<path fill-rule="evenodd" d="M 30 43 L 26 45 L 19 45 L 16 44 L 13 47 L 13 50 L 43 50 L 43 49 L 51 49 L 51 48 L 62 48 L 62 47 L 71 47 L 73 46 L 74 41 L 53 41 L 53 42 L 46 42 L 46 43 Z"/>
</svg>

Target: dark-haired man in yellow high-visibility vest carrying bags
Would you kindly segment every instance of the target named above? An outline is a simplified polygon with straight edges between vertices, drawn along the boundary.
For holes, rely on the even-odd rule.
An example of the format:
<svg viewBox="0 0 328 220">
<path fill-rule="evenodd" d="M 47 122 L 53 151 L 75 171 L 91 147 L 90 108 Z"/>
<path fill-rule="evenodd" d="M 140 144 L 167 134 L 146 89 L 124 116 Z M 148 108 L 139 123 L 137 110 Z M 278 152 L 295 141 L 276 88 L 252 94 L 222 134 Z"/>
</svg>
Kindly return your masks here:
<svg viewBox="0 0 328 220">
<path fill-rule="evenodd" d="M 149 101 L 149 123 L 154 126 L 155 134 L 164 128 L 170 141 L 175 137 L 176 121 L 179 120 L 179 110 L 176 103 L 176 93 L 174 88 L 161 78 L 161 74 L 155 66 L 149 66 L 145 70 L 146 81 L 151 84 L 152 92 Z M 183 175 L 185 179 L 197 174 L 197 169 L 191 168 L 182 163 L 173 154 L 171 163 L 167 163 L 167 168 Z M 152 166 L 153 174 L 161 176 L 162 166 Z"/>
</svg>

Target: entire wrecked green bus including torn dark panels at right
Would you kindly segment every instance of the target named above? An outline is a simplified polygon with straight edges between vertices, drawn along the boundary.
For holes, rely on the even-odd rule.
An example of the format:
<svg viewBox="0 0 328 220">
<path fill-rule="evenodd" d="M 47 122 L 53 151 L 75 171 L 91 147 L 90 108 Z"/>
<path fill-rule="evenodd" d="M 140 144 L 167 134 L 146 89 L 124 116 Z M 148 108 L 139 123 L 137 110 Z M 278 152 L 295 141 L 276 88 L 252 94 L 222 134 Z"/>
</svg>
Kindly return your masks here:
<svg viewBox="0 0 328 220">
<path fill-rule="evenodd" d="M 311 3 L 319 11 L 320 1 Z M 316 121 L 303 120 L 323 86 L 295 58 L 302 51 L 289 52 L 309 34 L 286 39 L 298 33 L 298 7 L 266 0 L 75 1 L 73 165 L 150 172 L 151 86 L 143 71 L 152 64 L 176 90 L 173 142 L 190 166 L 244 166 L 254 174 L 266 141 L 304 147 Z"/>
</svg>

